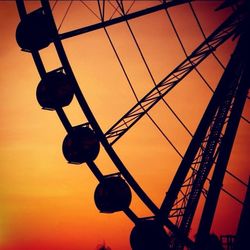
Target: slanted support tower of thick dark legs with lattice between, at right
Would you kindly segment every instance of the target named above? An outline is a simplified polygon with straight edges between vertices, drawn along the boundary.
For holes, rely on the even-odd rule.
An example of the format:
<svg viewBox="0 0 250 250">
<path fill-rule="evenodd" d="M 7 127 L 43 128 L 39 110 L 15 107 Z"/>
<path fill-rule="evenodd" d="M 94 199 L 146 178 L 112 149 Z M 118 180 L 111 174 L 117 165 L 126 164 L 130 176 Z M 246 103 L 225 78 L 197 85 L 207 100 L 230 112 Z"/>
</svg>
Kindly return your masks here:
<svg viewBox="0 0 250 250">
<path fill-rule="evenodd" d="M 247 9 L 247 3 L 241 6 Z M 239 11 L 239 10 L 238 10 Z M 196 248 L 203 249 L 210 228 L 249 89 L 249 13 L 242 17 L 238 45 L 222 75 L 210 103 L 163 201 L 161 210 L 177 217 L 179 229 L 186 235 L 212 167 L 214 172 L 199 224 Z M 209 38 L 208 38 L 209 39 Z M 214 240 L 214 237 L 210 237 Z M 213 241 L 215 244 L 215 241 Z M 211 243 L 212 244 L 212 243 Z M 177 241 L 177 249 L 183 243 Z"/>
</svg>

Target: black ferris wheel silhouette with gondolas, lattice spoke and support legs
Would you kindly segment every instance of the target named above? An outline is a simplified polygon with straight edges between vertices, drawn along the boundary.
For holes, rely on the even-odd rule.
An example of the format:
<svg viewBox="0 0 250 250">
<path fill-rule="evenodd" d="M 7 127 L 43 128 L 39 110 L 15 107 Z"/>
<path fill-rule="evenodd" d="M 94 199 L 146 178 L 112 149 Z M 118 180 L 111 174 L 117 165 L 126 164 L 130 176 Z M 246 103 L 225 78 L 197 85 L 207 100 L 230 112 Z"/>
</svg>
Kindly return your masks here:
<svg viewBox="0 0 250 250">
<path fill-rule="evenodd" d="M 249 88 L 249 34 L 246 34 L 249 33 L 250 27 L 249 1 L 238 1 L 237 8 L 214 32 L 190 55 L 186 54 L 183 62 L 158 84 L 155 83 L 153 89 L 140 100 L 137 99 L 136 105 L 129 109 L 106 133 L 103 133 L 81 92 L 62 46 L 62 40 L 101 28 L 104 28 L 108 35 L 106 27 L 121 22 L 126 22 L 132 34 L 128 23 L 130 19 L 159 10 L 165 10 L 167 13 L 168 8 L 190 1 L 162 1 L 158 5 L 133 13 L 129 13 L 130 8 L 126 11 L 123 1 L 115 1 L 117 4 L 115 12 L 119 12 L 121 16 L 114 18 L 112 16 L 109 19 L 105 19 L 106 2 L 109 1 L 97 1 L 100 23 L 58 34 L 48 0 L 41 0 L 41 8 L 30 13 L 27 13 L 25 1 L 16 1 L 21 18 L 16 30 L 16 40 L 22 50 L 32 54 L 41 77 L 37 88 L 38 102 L 43 108 L 56 111 L 67 132 L 63 141 L 63 154 L 66 160 L 69 163 L 87 163 L 100 182 L 95 192 L 95 202 L 98 209 L 101 212 L 122 210 L 135 223 L 130 239 L 133 250 L 168 249 L 169 237 L 164 226 L 168 227 L 175 237 L 174 249 L 183 249 L 184 245 L 193 247 L 194 242 L 188 238 L 190 226 L 203 192 L 204 183 L 213 168 L 214 173 L 207 193 L 195 247 L 198 250 L 219 250 L 221 246 L 218 238 L 210 235 L 210 227 Z M 218 10 L 235 2 L 235 0 L 224 1 Z M 203 60 L 213 54 L 221 44 L 231 37 L 238 36 L 240 38 L 237 48 L 205 110 L 159 209 L 134 180 L 112 146 L 143 116 L 148 115 L 151 108 L 192 70 L 196 69 Z M 54 44 L 60 66 L 47 72 L 40 56 L 40 50 L 46 48 L 50 43 Z M 138 48 L 138 50 L 140 49 Z M 83 125 L 72 126 L 63 110 L 64 106 L 70 104 L 73 95 L 84 114 L 84 119 L 86 118 L 88 121 Z M 117 167 L 118 174 L 112 173 L 104 176 L 94 163 L 100 150 L 100 143 L 114 166 Z M 131 191 L 128 185 L 152 212 L 152 219 L 139 219 L 129 208 Z M 244 214 L 246 213 L 244 212 Z M 176 218 L 175 224 L 170 220 L 171 218 Z M 245 224 L 242 222 L 239 225 L 237 244 L 241 244 L 240 242 L 245 242 L 243 239 L 247 239 L 244 228 Z M 105 249 L 105 245 L 103 249 Z"/>
</svg>

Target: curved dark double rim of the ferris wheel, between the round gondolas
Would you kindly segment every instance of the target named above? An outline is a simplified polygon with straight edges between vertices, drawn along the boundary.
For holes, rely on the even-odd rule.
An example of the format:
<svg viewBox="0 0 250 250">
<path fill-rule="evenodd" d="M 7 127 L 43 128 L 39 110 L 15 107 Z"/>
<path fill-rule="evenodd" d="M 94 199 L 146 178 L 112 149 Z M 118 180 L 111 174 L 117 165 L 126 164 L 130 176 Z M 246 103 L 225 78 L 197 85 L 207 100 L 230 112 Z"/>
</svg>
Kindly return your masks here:
<svg viewBox="0 0 250 250">
<path fill-rule="evenodd" d="M 56 25 L 54 23 L 54 19 L 53 19 L 53 15 L 52 15 L 52 12 L 51 12 L 50 5 L 49 5 L 49 1 L 48 0 L 40 0 L 40 1 L 41 1 L 42 8 L 44 8 L 44 11 L 49 13 L 50 19 L 51 19 L 51 21 L 53 23 L 53 28 L 56 30 Z M 17 8 L 18 8 L 19 15 L 20 15 L 21 20 L 22 20 L 22 18 L 24 18 L 26 16 L 26 14 L 27 14 L 25 4 L 24 4 L 24 0 L 16 0 L 16 3 L 17 3 Z M 75 82 L 75 84 L 78 85 L 78 83 L 77 83 L 77 81 L 76 81 L 76 79 L 74 77 L 74 73 L 73 73 L 73 71 L 72 71 L 72 69 L 70 67 L 70 64 L 69 64 L 68 60 L 67 60 L 67 56 L 66 56 L 66 53 L 65 53 L 65 51 L 64 51 L 64 49 L 62 47 L 61 39 L 59 38 L 58 33 L 56 33 L 56 36 L 57 36 L 56 37 L 57 41 L 54 38 L 53 43 L 54 43 L 57 50 L 58 50 L 58 46 L 60 47 L 59 48 L 60 52 L 57 51 L 57 53 L 58 53 L 58 56 L 61 57 L 60 60 L 61 60 L 61 63 L 62 63 L 62 68 L 65 70 L 65 72 L 67 74 L 70 72 L 71 77 L 73 78 L 73 81 Z M 34 62 L 36 64 L 37 70 L 38 70 L 38 72 L 40 74 L 40 77 L 43 78 L 43 76 L 46 75 L 46 70 L 45 70 L 43 62 L 42 62 L 42 60 L 40 58 L 39 50 L 33 50 L 33 51 L 28 51 L 28 52 L 31 52 L 31 54 L 33 56 L 33 59 L 34 59 Z M 62 58 L 63 58 L 63 60 L 62 60 Z M 66 65 L 67 65 L 66 67 L 65 67 L 65 62 L 66 62 Z M 67 71 L 69 71 L 69 72 L 67 72 Z M 79 89 L 79 91 L 80 91 L 80 89 Z M 80 93 L 80 92 L 78 92 L 78 93 Z M 75 95 L 76 95 L 76 93 L 75 93 Z M 80 93 L 80 96 L 81 95 L 82 95 L 82 93 Z M 83 96 L 81 97 L 81 99 L 84 102 L 86 102 L 85 99 L 83 98 Z M 87 104 L 87 102 L 86 102 L 86 104 Z M 86 109 L 87 106 L 85 106 L 85 109 Z M 137 194 L 137 196 L 141 199 L 141 201 L 144 203 L 144 205 L 154 214 L 154 216 L 156 216 L 159 213 L 159 208 L 147 196 L 147 194 L 142 190 L 142 188 L 139 186 L 139 184 L 134 180 L 132 175 L 129 173 L 129 171 L 126 169 L 126 167 L 123 165 L 122 161 L 120 160 L 118 155 L 115 153 L 112 146 L 106 140 L 106 137 L 105 137 L 104 133 L 102 132 L 101 128 L 99 127 L 97 121 L 95 121 L 95 117 L 92 114 L 90 108 L 87 107 L 87 109 L 90 112 L 90 114 L 88 114 L 86 116 L 87 119 L 88 119 L 88 122 L 91 125 L 91 127 L 94 129 L 95 132 L 96 132 L 96 130 L 99 130 L 98 131 L 98 138 L 100 138 L 100 137 L 102 138 L 100 141 L 101 141 L 102 145 L 104 144 L 103 147 L 105 148 L 106 152 L 108 151 L 107 154 L 109 155 L 109 157 L 110 157 L 110 152 L 111 152 L 111 155 L 113 155 L 110 158 L 113 161 L 114 165 L 116 167 L 117 167 L 117 165 L 120 165 L 119 167 L 117 167 L 119 172 L 122 174 L 122 176 L 127 181 L 127 183 L 130 185 L 130 187 L 134 190 L 134 192 Z M 59 118 L 61 119 L 61 121 L 62 122 L 64 121 L 64 123 L 66 124 L 66 125 L 64 125 L 66 131 L 67 132 L 70 131 L 71 125 L 70 125 L 69 121 L 67 120 L 67 117 L 64 114 L 62 108 L 58 108 L 56 111 L 57 111 L 57 114 L 58 114 Z M 86 113 L 85 113 L 85 115 L 86 115 Z M 89 119 L 89 116 L 91 117 L 90 119 Z M 90 122 L 89 120 L 92 120 L 92 121 Z M 93 120 L 94 120 L 94 122 L 93 122 Z M 96 175 L 97 179 L 100 180 L 100 178 L 105 177 L 100 173 L 100 171 L 97 170 L 96 165 L 94 164 L 94 162 L 87 162 L 87 164 L 89 165 L 89 168 L 91 170 L 95 169 L 95 172 L 94 171 L 92 171 L 92 172 Z M 121 168 L 122 168 L 122 170 L 121 170 Z M 135 214 L 130 209 L 127 209 L 124 212 L 134 223 L 137 222 L 138 218 L 135 216 Z M 141 219 L 143 219 L 143 218 L 141 218 Z M 184 235 L 181 235 L 178 228 L 170 220 L 168 220 L 166 218 L 163 218 L 162 223 L 165 226 L 167 226 L 171 231 L 175 232 L 177 235 L 180 235 L 181 238 L 184 238 L 185 241 L 187 242 L 187 245 L 192 244 L 192 241 L 189 238 L 185 237 Z"/>
</svg>

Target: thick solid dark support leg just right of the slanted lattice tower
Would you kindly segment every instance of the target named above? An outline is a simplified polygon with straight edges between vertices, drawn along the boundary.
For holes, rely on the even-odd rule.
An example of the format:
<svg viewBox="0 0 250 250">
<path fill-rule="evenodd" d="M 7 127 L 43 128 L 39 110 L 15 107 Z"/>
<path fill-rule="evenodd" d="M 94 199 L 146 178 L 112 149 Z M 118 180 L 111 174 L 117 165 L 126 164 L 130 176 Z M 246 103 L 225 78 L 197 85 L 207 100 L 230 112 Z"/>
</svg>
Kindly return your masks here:
<svg viewBox="0 0 250 250">
<path fill-rule="evenodd" d="M 197 232 L 197 249 L 203 249 L 202 242 L 204 242 L 204 239 L 210 232 L 216 205 L 218 202 L 220 190 L 226 172 L 227 163 L 232 150 L 233 142 L 235 139 L 235 135 L 250 86 L 250 50 L 249 39 L 246 38 L 247 35 L 246 37 L 242 37 L 239 42 L 241 46 L 239 58 L 240 60 L 243 60 L 244 63 L 242 67 L 242 75 L 239 79 L 240 82 L 235 97 L 234 105 L 228 121 L 228 126 L 226 128 L 225 135 L 221 142 L 221 150 L 218 156 L 217 163 L 215 165 L 207 199 L 200 220 L 200 225 Z"/>
</svg>

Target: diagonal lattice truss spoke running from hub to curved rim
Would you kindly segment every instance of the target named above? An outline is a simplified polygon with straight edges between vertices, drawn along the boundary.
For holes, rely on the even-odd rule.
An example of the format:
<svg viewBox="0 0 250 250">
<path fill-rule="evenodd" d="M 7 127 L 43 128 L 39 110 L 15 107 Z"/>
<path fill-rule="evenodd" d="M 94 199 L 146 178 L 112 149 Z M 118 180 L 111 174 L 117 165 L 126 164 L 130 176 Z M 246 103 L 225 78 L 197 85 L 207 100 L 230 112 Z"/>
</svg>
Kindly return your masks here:
<svg viewBox="0 0 250 250">
<path fill-rule="evenodd" d="M 110 144 L 114 144 L 170 90 L 206 59 L 217 47 L 235 34 L 241 24 L 241 11 L 231 14 L 204 42 L 202 42 L 179 66 L 161 80 L 125 115 L 123 115 L 106 133 Z"/>
</svg>

